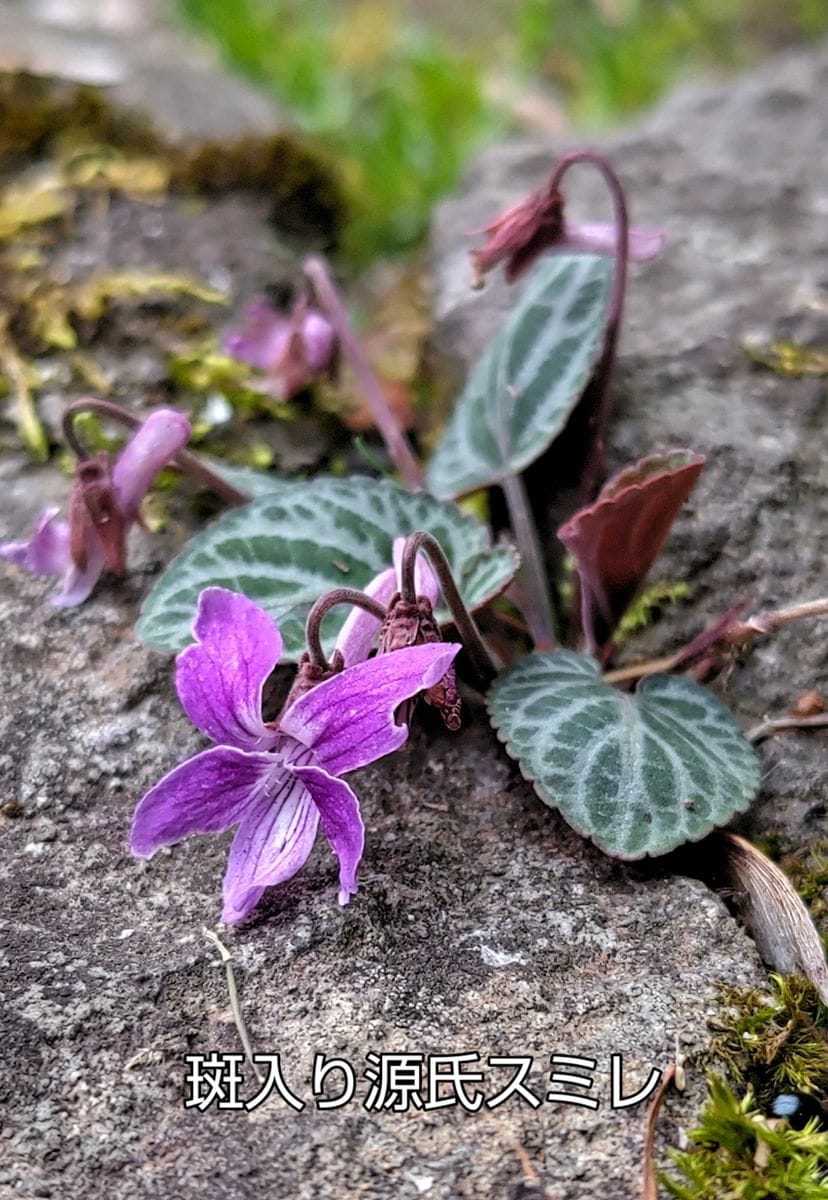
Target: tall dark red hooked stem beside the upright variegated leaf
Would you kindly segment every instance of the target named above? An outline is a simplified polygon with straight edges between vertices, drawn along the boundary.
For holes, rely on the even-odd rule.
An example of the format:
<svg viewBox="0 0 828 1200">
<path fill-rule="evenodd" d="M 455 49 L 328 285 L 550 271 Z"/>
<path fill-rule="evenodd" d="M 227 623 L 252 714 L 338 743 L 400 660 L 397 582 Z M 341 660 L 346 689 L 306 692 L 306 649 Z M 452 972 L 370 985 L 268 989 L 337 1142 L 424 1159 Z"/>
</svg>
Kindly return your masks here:
<svg viewBox="0 0 828 1200">
<path fill-rule="evenodd" d="M 601 479 L 606 474 L 604 457 L 604 439 L 606 436 L 607 419 L 610 416 L 610 400 L 612 376 L 616 366 L 616 353 L 618 350 L 618 335 L 624 313 L 624 296 L 626 294 L 626 265 L 630 254 L 630 218 L 626 211 L 626 197 L 622 182 L 610 166 L 607 160 L 595 150 L 572 150 L 560 158 L 550 178 L 550 191 L 560 187 L 564 175 L 570 167 L 576 163 L 590 163 L 600 172 L 607 191 L 612 197 L 612 208 L 616 224 L 616 270 L 612 277 L 612 292 L 610 294 L 610 307 L 607 311 L 606 334 L 604 336 L 604 349 L 598 360 L 594 372 L 594 386 L 598 396 L 595 410 L 592 418 L 593 442 L 589 449 L 589 457 L 583 473 L 582 494 L 584 502 L 593 499 Z"/>
</svg>

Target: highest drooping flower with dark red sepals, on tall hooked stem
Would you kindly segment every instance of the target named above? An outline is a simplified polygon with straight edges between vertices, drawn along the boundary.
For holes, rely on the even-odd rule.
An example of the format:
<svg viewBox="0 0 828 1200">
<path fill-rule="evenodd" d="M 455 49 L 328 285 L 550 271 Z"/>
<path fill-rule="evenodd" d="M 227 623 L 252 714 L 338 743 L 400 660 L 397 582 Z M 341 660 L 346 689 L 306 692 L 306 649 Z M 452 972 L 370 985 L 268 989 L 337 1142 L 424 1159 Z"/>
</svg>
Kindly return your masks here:
<svg viewBox="0 0 828 1200">
<path fill-rule="evenodd" d="M 476 284 L 503 260 L 506 282 L 514 283 L 546 251 L 616 253 L 616 227 L 566 221 L 563 194 L 547 184 L 475 233 L 488 234 L 485 246 L 472 251 Z M 664 242 L 665 235 L 658 229 L 630 229 L 629 257 L 647 262 L 661 252 Z"/>
</svg>

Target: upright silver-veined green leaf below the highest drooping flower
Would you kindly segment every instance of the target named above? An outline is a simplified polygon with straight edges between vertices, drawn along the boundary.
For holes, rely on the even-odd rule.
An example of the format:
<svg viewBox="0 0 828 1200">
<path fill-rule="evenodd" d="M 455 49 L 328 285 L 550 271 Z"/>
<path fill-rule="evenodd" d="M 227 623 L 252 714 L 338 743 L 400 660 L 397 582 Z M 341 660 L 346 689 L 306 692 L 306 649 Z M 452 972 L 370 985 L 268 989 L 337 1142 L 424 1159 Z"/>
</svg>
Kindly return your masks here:
<svg viewBox="0 0 828 1200">
<path fill-rule="evenodd" d="M 533 268 L 472 371 L 428 467 L 436 496 L 516 475 L 560 433 L 604 341 L 612 263 L 559 254 Z"/>
</svg>

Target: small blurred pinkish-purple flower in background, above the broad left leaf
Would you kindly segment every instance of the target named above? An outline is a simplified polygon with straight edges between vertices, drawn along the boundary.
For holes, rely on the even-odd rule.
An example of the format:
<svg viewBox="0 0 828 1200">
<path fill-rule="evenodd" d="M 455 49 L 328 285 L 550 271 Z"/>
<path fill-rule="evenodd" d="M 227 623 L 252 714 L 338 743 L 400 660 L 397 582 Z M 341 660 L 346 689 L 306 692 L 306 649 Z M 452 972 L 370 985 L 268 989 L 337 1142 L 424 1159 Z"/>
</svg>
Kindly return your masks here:
<svg viewBox="0 0 828 1200">
<path fill-rule="evenodd" d="M 223 349 L 264 371 L 272 394 L 289 400 L 328 370 L 335 341 L 326 318 L 305 300 L 294 305 L 289 317 L 271 308 L 266 300 L 254 300 L 245 310 L 244 328 L 227 335 Z"/>
</svg>

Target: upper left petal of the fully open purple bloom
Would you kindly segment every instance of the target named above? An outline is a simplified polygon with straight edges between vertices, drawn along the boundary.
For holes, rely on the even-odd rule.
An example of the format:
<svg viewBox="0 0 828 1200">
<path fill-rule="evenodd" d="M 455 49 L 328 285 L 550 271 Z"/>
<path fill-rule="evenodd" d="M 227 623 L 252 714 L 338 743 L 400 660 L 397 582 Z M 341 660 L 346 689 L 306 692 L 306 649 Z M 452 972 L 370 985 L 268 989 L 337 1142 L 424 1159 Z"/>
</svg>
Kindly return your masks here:
<svg viewBox="0 0 828 1200">
<path fill-rule="evenodd" d="M 196 644 L 175 665 L 185 713 L 214 742 L 270 749 L 277 734 L 262 720 L 262 690 L 282 656 L 275 620 L 239 592 L 205 588 L 193 634 Z"/>
</svg>

